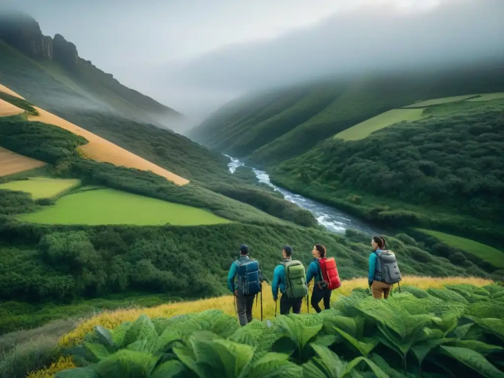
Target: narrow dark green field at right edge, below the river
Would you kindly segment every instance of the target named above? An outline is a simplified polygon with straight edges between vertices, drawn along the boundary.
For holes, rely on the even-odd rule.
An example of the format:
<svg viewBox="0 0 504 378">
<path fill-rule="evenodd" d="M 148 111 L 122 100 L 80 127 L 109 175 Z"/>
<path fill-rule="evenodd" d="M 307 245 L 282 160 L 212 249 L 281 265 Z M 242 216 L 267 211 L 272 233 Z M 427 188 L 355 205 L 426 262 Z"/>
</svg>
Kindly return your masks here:
<svg viewBox="0 0 504 378">
<path fill-rule="evenodd" d="M 418 231 L 427 235 L 434 236 L 445 244 L 454 248 L 459 248 L 479 257 L 480 259 L 492 264 L 493 266 L 504 269 L 504 252 L 490 247 L 477 241 L 466 239 L 464 237 L 445 234 L 443 232 L 425 230 L 417 228 Z"/>
</svg>

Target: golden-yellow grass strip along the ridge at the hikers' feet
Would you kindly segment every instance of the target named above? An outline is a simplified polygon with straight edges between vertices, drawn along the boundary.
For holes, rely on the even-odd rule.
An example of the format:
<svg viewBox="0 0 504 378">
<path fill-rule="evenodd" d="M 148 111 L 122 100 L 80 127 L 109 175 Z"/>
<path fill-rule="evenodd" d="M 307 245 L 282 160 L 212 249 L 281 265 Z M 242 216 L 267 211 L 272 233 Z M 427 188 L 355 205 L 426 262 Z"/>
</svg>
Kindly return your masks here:
<svg viewBox="0 0 504 378">
<path fill-rule="evenodd" d="M 467 283 L 476 286 L 484 286 L 492 283 L 491 280 L 485 280 L 477 277 L 418 277 L 418 276 L 403 276 L 401 281 L 402 285 L 412 285 L 422 289 L 427 289 L 429 287 L 443 287 L 450 284 Z M 348 295 L 355 288 L 366 288 L 367 278 L 356 278 L 351 280 L 344 280 L 341 283 L 341 287 L 333 292 L 331 301 L 334 301 L 340 295 Z M 311 295 L 310 287 L 310 295 Z M 263 288 L 263 319 L 271 319 L 275 316 L 275 302 L 271 294 L 271 288 L 267 284 Z M 393 294 L 392 294 L 393 295 Z M 257 307 L 254 304 L 253 315 L 255 319 L 260 319 L 261 317 L 261 307 L 258 303 Z M 139 318 L 142 314 L 146 314 L 151 318 L 155 317 L 172 317 L 179 314 L 189 313 L 189 312 L 201 312 L 208 309 L 218 308 L 231 316 L 236 316 L 234 299 L 232 295 L 226 295 L 221 297 L 185 301 L 178 303 L 162 304 L 156 307 L 140 308 L 140 309 L 120 309 L 113 311 L 102 312 L 93 318 L 83 321 L 77 328 L 64 335 L 59 344 L 62 347 L 70 347 L 81 342 L 86 333 L 93 330 L 96 325 L 101 325 L 106 328 L 114 328 L 121 324 L 122 322 L 134 321 Z M 306 300 L 303 300 L 303 305 L 301 306 L 301 312 L 306 313 Z M 310 308 L 310 313 L 314 313 L 313 308 Z M 237 320 L 238 321 L 238 320 Z M 30 373 L 27 378 L 51 378 L 56 372 L 75 367 L 75 364 L 70 356 L 61 356 L 55 362 L 45 369 L 34 371 Z"/>
</svg>

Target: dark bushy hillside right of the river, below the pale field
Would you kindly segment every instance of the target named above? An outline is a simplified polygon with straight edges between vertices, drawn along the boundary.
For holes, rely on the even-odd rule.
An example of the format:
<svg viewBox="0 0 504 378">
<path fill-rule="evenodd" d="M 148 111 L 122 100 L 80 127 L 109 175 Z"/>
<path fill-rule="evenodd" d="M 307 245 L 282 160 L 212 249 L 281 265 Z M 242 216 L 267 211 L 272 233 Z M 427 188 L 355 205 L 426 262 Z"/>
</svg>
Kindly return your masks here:
<svg viewBox="0 0 504 378">
<path fill-rule="evenodd" d="M 499 245 L 503 109 L 502 99 L 431 106 L 423 119 L 365 139 L 328 139 L 280 164 L 272 179 L 374 222 Z"/>
</svg>

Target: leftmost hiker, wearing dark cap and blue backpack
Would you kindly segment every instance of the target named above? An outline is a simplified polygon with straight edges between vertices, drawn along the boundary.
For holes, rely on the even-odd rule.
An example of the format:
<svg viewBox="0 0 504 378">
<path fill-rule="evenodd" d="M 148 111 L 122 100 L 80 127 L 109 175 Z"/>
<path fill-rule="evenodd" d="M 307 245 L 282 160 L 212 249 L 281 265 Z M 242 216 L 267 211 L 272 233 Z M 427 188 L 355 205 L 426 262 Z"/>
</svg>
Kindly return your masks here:
<svg viewBox="0 0 504 378">
<path fill-rule="evenodd" d="M 235 287 L 236 276 L 238 276 L 238 285 Z M 252 321 L 254 297 L 261 292 L 262 282 L 259 262 L 248 257 L 246 244 L 240 244 L 240 258 L 231 264 L 227 275 L 227 287 L 236 297 L 240 326 L 246 326 Z"/>
</svg>

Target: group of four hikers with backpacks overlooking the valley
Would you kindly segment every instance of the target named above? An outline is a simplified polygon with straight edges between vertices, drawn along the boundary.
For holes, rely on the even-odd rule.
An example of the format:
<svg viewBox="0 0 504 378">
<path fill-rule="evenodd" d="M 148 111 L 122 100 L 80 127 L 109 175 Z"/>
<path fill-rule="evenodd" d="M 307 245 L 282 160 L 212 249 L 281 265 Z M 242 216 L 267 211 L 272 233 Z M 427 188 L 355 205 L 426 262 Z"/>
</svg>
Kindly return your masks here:
<svg viewBox="0 0 504 378">
<path fill-rule="evenodd" d="M 369 289 L 374 298 L 387 299 L 392 285 L 401 281 L 401 273 L 394 253 L 386 249 L 383 236 L 373 236 L 371 246 L 373 250 L 369 255 L 367 276 Z M 254 300 L 259 293 L 262 295 L 264 281 L 259 262 L 251 259 L 248 254 L 248 246 L 240 244 L 240 258 L 231 264 L 227 277 L 228 288 L 235 296 L 236 312 L 241 326 L 252 321 Z M 292 260 L 292 254 L 292 247 L 284 245 L 283 261 L 273 271 L 271 291 L 275 301 L 275 316 L 279 291 L 281 293 L 280 314 L 288 314 L 291 309 L 294 313 L 300 313 L 303 298 L 308 295 L 308 287 L 312 280 L 311 306 L 315 311 L 321 312 L 319 303 L 323 300 L 324 308 L 329 309 L 332 291 L 341 286 L 334 257 L 327 257 L 327 249 L 324 245 L 313 245 L 311 251 L 313 261 L 305 272 L 300 261 Z M 237 279 L 237 284 L 235 284 L 235 279 Z"/>
</svg>

